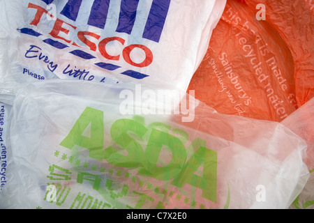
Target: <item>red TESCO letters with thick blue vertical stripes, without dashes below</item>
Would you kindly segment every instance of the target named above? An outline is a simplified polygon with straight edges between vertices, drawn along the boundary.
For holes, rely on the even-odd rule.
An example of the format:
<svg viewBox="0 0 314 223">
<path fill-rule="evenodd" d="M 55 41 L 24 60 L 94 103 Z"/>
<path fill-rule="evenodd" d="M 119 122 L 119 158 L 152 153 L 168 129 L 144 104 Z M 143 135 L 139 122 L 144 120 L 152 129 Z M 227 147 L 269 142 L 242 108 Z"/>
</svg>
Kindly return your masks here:
<svg viewBox="0 0 314 223">
<path fill-rule="evenodd" d="M 47 21 L 54 22 L 52 31 L 50 31 L 49 33 L 50 36 L 52 36 L 53 38 L 60 39 L 68 44 L 80 47 L 79 45 L 77 45 L 77 43 L 71 40 L 69 36 L 69 33 L 76 33 L 77 38 L 80 40 L 80 42 L 82 42 L 82 44 L 84 44 L 85 47 L 88 47 L 91 51 L 95 52 L 98 50 L 98 52 L 100 52 L 100 54 L 105 59 L 108 59 L 110 61 L 119 61 L 120 57 L 123 56 L 126 63 L 138 68 L 147 67 L 152 63 L 154 55 L 151 52 L 151 49 L 149 49 L 149 47 L 145 45 L 126 45 L 126 40 L 119 36 L 107 37 L 100 40 L 100 35 L 98 33 L 93 33 L 91 31 L 79 31 L 77 29 L 77 26 L 75 26 L 75 22 L 80 18 L 80 10 L 82 10 L 84 6 L 87 6 L 87 3 L 85 5 L 83 4 L 83 0 L 68 0 L 63 6 L 63 9 L 60 11 L 60 15 L 63 15 L 69 20 L 73 21 L 70 23 L 63 21 L 56 16 L 61 5 L 59 2 L 57 5 L 54 5 L 53 0 L 42 1 L 47 3 L 46 8 L 38 6 L 34 3 L 29 3 L 28 8 L 36 10 L 36 13 L 30 24 L 33 26 L 38 26 L 38 24 L 40 24 L 40 22 L 42 22 L 45 17 L 46 20 L 47 18 L 50 18 Z M 94 0 L 94 3 L 92 3 L 91 10 L 89 12 L 87 25 L 94 26 L 99 29 L 105 29 L 107 17 L 110 13 L 110 10 L 114 10 L 112 9 L 114 8 L 112 7 L 112 2 L 113 1 L 110 0 Z M 57 8 L 57 6 L 59 6 L 59 8 Z M 131 34 L 135 25 L 135 21 L 137 20 L 137 8 L 139 8 L 139 6 L 139 0 L 121 1 L 119 22 L 117 23 L 117 28 L 115 29 L 116 33 L 126 33 L 128 35 Z M 146 19 L 146 24 L 144 25 L 144 31 L 142 31 L 142 38 L 154 41 L 155 43 L 159 43 L 160 36 L 163 33 L 163 27 L 165 25 L 169 8 L 170 0 L 152 1 L 149 14 Z M 111 26 L 112 24 L 109 25 Z M 114 43 L 114 45 L 116 46 L 123 48 L 121 52 L 119 52 L 119 54 L 110 52 L 110 50 L 108 52 L 107 47 L 112 45 L 112 43 Z M 144 52 L 144 58 L 142 59 L 142 61 L 138 61 L 139 59 L 132 58 L 131 54 L 133 50 L 137 50 L 138 52 Z M 82 57 L 82 54 L 84 59 L 89 59 L 89 56 L 86 56 L 86 54 L 84 53 L 81 53 L 78 56 Z"/>
</svg>

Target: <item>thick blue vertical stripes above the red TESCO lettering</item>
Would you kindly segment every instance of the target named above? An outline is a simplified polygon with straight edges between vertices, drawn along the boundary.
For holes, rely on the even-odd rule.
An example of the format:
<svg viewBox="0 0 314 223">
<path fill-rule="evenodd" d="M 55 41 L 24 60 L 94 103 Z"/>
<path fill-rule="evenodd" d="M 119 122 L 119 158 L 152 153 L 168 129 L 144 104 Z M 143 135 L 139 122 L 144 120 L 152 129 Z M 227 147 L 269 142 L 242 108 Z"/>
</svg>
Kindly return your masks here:
<svg viewBox="0 0 314 223">
<path fill-rule="evenodd" d="M 42 0 L 47 4 L 53 3 L 54 0 Z M 83 0 L 68 0 L 64 8 L 61 10 L 61 15 L 68 19 L 76 21 L 77 15 L 82 6 Z M 121 0 L 119 13 L 119 23 L 116 31 L 119 33 L 130 34 L 135 24 L 137 7 L 140 0 Z M 170 7 L 171 0 L 153 0 L 147 17 L 147 22 L 144 26 L 142 38 L 159 42 L 163 26 Z M 90 26 L 95 26 L 104 29 L 107 14 L 110 7 L 110 0 L 94 0 L 91 6 L 91 13 L 87 22 Z"/>
</svg>

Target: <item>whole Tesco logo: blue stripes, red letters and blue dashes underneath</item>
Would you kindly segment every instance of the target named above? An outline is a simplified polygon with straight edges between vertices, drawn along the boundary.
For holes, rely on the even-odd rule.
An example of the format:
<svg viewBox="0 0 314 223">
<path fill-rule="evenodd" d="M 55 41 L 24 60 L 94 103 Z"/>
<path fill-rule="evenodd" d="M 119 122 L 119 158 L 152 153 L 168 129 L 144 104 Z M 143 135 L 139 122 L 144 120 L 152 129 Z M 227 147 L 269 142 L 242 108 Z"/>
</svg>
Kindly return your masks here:
<svg viewBox="0 0 314 223">
<path fill-rule="evenodd" d="M 160 41 L 170 0 L 38 0 L 28 3 L 27 8 L 30 26 L 17 29 L 20 33 L 36 37 L 65 54 L 89 60 L 106 72 L 144 79 L 150 75 L 142 73 L 141 68 L 154 61 L 150 48 Z M 112 17 L 117 17 L 117 21 L 112 21 Z M 86 22 L 85 28 L 82 21 Z M 128 43 L 128 36 L 132 43 Z"/>
</svg>

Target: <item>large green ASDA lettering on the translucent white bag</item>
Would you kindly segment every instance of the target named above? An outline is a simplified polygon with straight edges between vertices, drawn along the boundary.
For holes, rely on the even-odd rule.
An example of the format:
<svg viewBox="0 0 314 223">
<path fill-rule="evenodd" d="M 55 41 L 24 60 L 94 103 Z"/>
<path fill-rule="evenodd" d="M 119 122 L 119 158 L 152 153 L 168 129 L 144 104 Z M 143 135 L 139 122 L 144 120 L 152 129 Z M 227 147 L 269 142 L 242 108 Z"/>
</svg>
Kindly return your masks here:
<svg viewBox="0 0 314 223">
<path fill-rule="evenodd" d="M 94 160 L 105 161 L 114 167 L 136 169 L 141 176 L 167 181 L 177 188 L 191 185 L 202 191 L 202 198 L 216 203 L 218 153 L 207 148 L 203 139 L 189 141 L 188 132 L 184 130 L 172 128 L 171 131 L 165 132 L 158 130 L 158 123 L 153 124 L 145 126 L 137 120 L 118 119 L 112 123 L 108 132 L 114 144 L 105 146 L 107 133 L 104 112 L 87 107 L 60 146 L 70 150 L 87 149 L 89 157 Z M 165 123 L 159 124 L 165 127 Z M 132 137 L 135 135 L 137 137 Z M 142 141 L 147 141 L 146 148 L 142 147 Z M 127 155 L 117 151 L 117 146 L 125 150 Z M 165 155 L 163 148 L 169 149 L 171 155 Z M 194 151 L 193 155 L 188 155 L 189 149 Z M 162 166 L 160 160 L 163 162 Z M 200 167 L 202 174 L 199 172 Z M 52 174 L 53 169 L 50 169 L 50 172 Z M 77 178 L 82 180 L 84 177 Z M 97 189 L 100 182 L 97 180 L 98 176 L 95 178 L 93 188 Z M 53 194 L 53 190 L 51 193 Z"/>
</svg>

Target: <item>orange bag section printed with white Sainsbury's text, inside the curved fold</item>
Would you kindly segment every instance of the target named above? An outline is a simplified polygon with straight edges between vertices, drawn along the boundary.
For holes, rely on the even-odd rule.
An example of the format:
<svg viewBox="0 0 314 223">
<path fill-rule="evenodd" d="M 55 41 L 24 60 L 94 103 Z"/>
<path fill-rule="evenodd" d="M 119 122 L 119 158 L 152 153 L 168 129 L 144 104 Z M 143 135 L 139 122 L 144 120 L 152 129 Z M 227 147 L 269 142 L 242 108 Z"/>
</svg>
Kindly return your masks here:
<svg viewBox="0 0 314 223">
<path fill-rule="evenodd" d="M 290 49 L 256 10 L 227 1 L 188 90 L 217 112 L 282 121 L 297 109 Z"/>
</svg>

